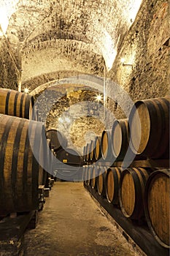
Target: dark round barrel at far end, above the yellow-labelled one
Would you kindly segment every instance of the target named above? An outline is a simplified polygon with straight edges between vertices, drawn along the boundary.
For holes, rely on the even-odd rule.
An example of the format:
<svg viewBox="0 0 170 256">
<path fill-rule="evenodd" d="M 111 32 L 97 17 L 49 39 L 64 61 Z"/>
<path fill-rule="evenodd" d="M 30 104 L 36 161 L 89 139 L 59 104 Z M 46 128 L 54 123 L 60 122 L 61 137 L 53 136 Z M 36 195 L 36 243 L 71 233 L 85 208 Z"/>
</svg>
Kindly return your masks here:
<svg viewBox="0 0 170 256">
<path fill-rule="evenodd" d="M 51 148 L 55 151 L 60 150 L 61 148 L 66 148 L 67 139 L 66 137 L 56 129 L 49 129 L 46 132 L 46 136 L 50 139 Z"/>
</svg>

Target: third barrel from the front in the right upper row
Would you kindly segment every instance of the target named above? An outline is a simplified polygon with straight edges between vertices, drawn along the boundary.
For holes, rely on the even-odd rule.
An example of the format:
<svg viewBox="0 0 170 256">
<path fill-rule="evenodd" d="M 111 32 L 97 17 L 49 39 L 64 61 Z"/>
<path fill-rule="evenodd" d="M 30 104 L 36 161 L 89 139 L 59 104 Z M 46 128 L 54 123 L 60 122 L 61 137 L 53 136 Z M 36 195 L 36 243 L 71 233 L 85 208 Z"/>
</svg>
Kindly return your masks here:
<svg viewBox="0 0 170 256">
<path fill-rule="evenodd" d="M 111 129 L 105 129 L 101 135 L 101 154 L 104 160 L 113 160 L 112 143 L 111 143 Z"/>
</svg>

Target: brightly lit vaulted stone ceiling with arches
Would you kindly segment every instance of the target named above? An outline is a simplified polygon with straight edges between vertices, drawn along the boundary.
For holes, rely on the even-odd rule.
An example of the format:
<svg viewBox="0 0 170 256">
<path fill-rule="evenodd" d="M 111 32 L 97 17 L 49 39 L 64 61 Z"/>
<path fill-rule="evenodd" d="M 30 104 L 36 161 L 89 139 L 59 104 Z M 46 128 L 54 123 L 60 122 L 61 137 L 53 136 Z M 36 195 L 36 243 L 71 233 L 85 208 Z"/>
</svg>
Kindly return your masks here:
<svg viewBox="0 0 170 256">
<path fill-rule="evenodd" d="M 61 71 L 103 75 L 141 1 L 1 0 L 1 28 L 20 56 L 22 83 Z"/>
</svg>

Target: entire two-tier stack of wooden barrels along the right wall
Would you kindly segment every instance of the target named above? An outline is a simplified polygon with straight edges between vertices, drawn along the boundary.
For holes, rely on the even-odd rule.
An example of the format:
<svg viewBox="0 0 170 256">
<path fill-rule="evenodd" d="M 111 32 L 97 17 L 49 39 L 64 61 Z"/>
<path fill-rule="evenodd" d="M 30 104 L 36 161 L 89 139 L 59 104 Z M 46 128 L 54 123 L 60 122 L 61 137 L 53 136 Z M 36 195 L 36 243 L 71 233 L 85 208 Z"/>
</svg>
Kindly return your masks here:
<svg viewBox="0 0 170 256">
<path fill-rule="evenodd" d="M 169 97 L 136 101 L 129 118 L 114 120 L 84 151 L 85 186 L 125 218 L 145 219 L 169 248 Z"/>
</svg>

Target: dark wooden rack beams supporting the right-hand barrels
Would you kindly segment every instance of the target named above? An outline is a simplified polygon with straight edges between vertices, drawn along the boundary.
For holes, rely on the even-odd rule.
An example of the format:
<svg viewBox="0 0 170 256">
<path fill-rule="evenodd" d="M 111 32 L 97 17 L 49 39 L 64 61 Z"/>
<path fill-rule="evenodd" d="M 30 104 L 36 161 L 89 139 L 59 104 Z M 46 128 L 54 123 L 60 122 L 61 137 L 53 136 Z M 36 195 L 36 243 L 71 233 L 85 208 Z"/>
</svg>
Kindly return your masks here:
<svg viewBox="0 0 170 256">
<path fill-rule="evenodd" d="M 86 165 L 93 165 L 95 162 L 88 162 Z M 123 162 L 98 162 L 98 167 L 121 167 Z M 124 163 L 125 164 L 125 163 Z M 169 159 L 142 159 L 131 162 L 130 165 L 126 163 L 128 167 L 151 167 L 151 168 L 169 168 Z M 97 165 L 97 163 L 96 163 Z M 84 165 L 85 166 L 85 165 Z M 115 226 L 121 231 L 127 241 L 133 241 L 132 244 L 135 247 L 142 249 L 142 252 L 147 256 L 169 256 L 169 249 L 158 244 L 154 236 L 147 226 L 146 220 L 132 220 L 126 218 L 119 206 L 115 206 L 107 201 L 104 195 L 99 195 L 96 187 L 92 188 L 85 184 L 84 187 L 90 192 L 90 196 L 93 197 L 99 203 L 101 209 L 106 215 L 113 220 Z"/>
</svg>

